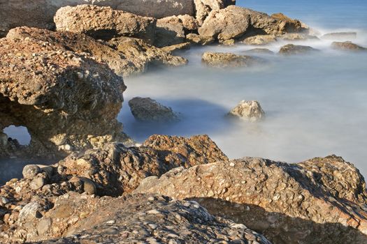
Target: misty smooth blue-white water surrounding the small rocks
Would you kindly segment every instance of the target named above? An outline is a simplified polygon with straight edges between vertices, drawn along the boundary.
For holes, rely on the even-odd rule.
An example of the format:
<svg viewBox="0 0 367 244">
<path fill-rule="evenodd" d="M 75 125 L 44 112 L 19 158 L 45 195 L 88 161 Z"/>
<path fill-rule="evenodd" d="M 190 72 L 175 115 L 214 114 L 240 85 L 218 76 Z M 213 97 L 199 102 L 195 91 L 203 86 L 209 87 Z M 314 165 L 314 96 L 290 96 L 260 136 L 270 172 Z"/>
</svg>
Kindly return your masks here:
<svg viewBox="0 0 367 244">
<path fill-rule="evenodd" d="M 331 30 L 332 31 L 332 30 Z M 358 31 L 354 43 L 367 47 Z M 326 31 L 325 31 L 326 32 Z M 367 175 L 367 53 L 340 52 L 330 40 L 279 42 L 265 46 L 310 45 L 310 55 L 257 55 L 265 65 L 213 69 L 201 64 L 205 51 L 245 54 L 252 47 L 203 47 L 185 52 L 189 65 L 128 77 L 119 119 L 128 135 L 143 142 L 152 134 L 208 134 L 229 158 L 258 156 L 286 162 L 337 154 Z M 180 112 L 174 124 L 139 123 L 127 101 L 150 97 Z M 258 100 L 266 112 L 261 123 L 225 117 L 240 100 Z"/>
</svg>

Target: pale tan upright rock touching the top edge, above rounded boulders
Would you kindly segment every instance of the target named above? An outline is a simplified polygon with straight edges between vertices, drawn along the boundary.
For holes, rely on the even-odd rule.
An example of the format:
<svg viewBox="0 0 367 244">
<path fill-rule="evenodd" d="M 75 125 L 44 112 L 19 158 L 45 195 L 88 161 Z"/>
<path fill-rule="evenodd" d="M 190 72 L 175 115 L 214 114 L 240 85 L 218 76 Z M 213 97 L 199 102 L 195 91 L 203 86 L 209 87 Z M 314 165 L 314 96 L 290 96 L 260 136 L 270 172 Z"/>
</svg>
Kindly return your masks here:
<svg viewBox="0 0 367 244">
<path fill-rule="evenodd" d="M 236 0 L 194 0 L 196 20 L 203 24 L 212 10 L 220 10 L 229 5 L 236 5 Z"/>
</svg>

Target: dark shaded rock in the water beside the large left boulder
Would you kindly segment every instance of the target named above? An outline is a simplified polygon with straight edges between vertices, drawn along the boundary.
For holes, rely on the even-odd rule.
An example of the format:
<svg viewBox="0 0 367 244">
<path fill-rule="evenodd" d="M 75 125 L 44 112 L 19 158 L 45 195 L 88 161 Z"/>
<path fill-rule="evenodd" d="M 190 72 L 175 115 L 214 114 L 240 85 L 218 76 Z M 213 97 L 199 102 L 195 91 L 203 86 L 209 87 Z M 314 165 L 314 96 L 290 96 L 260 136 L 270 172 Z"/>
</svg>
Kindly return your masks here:
<svg viewBox="0 0 367 244">
<path fill-rule="evenodd" d="M 178 121 L 178 114 L 171 107 L 161 105 L 152 98 L 136 97 L 129 100 L 131 113 L 138 121 L 169 122 Z"/>
</svg>

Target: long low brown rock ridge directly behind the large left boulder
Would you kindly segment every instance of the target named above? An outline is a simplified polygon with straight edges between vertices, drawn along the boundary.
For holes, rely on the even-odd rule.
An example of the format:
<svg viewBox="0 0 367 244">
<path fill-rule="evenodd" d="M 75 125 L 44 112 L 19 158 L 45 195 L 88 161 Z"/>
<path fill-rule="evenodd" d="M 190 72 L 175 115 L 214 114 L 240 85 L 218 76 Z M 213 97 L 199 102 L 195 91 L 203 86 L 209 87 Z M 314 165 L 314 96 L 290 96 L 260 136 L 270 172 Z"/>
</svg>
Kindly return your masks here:
<svg viewBox="0 0 367 244">
<path fill-rule="evenodd" d="M 52 43 L 59 49 L 77 53 L 89 53 L 101 63 L 106 63 L 117 75 L 129 76 L 143 73 L 149 66 L 180 66 L 187 60 L 173 56 L 170 52 L 133 38 L 113 38 L 109 43 L 94 40 L 82 33 L 69 31 L 48 31 L 43 29 L 19 27 L 11 29 L 7 38 L 31 39 Z"/>
</svg>

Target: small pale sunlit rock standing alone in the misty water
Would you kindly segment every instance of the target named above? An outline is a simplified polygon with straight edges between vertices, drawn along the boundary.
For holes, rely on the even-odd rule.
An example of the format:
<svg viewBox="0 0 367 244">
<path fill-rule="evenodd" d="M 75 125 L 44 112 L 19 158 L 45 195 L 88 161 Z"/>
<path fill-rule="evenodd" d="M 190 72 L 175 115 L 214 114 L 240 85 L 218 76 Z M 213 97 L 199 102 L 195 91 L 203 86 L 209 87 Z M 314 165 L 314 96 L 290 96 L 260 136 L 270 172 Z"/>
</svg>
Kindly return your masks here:
<svg viewBox="0 0 367 244">
<path fill-rule="evenodd" d="M 229 116 L 236 116 L 250 122 L 261 121 L 265 118 L 265 112 L 257 101 L 242 100 L 229 113 Z"/>
</svg>

